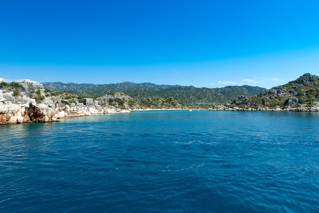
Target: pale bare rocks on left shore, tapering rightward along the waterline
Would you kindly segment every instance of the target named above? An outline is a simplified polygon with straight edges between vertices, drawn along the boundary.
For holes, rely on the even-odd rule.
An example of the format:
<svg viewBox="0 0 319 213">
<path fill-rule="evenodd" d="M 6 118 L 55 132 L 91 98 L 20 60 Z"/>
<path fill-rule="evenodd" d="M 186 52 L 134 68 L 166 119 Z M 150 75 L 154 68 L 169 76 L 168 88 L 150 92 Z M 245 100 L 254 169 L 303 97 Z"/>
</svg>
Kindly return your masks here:
<svg viewBox="0 0 319 213">
<path fill-rule="evenodd" d="M 83 102 L 68 105 L 62 103 L 61 97 L 45 97 L 43 85 L 31 80 L 1 83 L 0 124 L 56 122 L 61 117 L 129 112 L 101 106 L 93 99 L 83 99 Z"/>
</svg>

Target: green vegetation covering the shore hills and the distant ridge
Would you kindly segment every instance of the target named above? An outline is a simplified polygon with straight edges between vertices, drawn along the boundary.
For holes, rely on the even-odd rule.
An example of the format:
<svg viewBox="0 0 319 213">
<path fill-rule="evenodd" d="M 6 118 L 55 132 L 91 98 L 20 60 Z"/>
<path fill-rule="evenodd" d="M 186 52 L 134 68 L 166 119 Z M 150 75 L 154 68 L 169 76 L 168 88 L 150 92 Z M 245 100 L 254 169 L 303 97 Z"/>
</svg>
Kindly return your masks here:
<svg viewBox="0 0 319 213">
<path fill-rule="evenodd" d="M 26 91 L 25 86 L 19 82 L 7 83 L 5 81 L 0 82 L 0 88 L 11 92 L 15 99 L 22 92 L 23 96 L 36 99 L 36 101 L 44 100 L 45 97 L 60 97 L 62 104 L 98 104 L 117 109 L 208 108 L 211 105 L 217 106 L 218 104 L 224 104 L 225 106 L 225 103 L 228 108 L 264 110 L 304 110 L 303 107 L 311 108 L 313 106 L 317 110 L 319 106 L 319 77 L 310 74 L 304 74 L 295 81 L 290 81 L 269 90 L 252 86 L 196 88 L 194 86 L 135 84 L 131 82 L 108 85 L 47 84 L 50 87 L 56 87 L 58 90 L 46 88 L 44 93 L 42 88 L 35 88 Z M 65 90 L 61 90 L 61 88 Z M 69 88 L 77 90 L 68 90 Z M 101 88 L 104 88 L 104 90 Z M 101 91 L 110 89 L 120 90 L 121 92 L 111 91 L 98 96 Z M 92 92 L 90 96 L 87 95 L 89 92 Z"/>
</svg>

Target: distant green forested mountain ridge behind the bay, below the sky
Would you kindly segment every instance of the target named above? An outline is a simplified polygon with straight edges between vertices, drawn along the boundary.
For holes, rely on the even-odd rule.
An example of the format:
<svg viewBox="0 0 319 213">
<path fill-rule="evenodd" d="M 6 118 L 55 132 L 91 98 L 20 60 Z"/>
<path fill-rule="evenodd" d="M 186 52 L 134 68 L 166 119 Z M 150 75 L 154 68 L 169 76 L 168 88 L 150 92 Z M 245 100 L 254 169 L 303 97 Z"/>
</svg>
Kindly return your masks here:
<svg viewBox="0 0 319 213">
<path fill-rule="evenodd" d="M 197 88 L 194 86 L 157 85 L 153 83 L 123 82 L 117 84 L 42 83 L 45 89 L 70 91 L 82 97 L 96 98 L 104 94 L 123 92 L 134 100 L 151 97 L 174 98 L 189 107 L 210 107 L 226 104 L 240 96 L 257 96 L 266 89 L 256 86 L 226 86 L 223 88 Z"/>
</svg>

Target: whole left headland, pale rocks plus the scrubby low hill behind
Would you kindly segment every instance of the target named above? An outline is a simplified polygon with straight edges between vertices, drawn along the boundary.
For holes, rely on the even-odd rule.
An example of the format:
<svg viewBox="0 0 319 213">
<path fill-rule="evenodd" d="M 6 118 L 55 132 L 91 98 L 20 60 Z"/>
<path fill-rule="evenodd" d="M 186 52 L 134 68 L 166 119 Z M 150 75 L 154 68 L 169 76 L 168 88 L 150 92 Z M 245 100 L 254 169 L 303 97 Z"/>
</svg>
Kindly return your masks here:
<svg viewBox="0 0 319 213">
<path fill-rule="evenodd" d="M 31 80 L 9 84 L 0 78 L 0 124 L 55 122 L 61 117 L 171 108 L 185 107 L 173 98 L 134 100 L 121 92 L 82 98 L 69 92 L 44 90 L 42 84 Z"/>
</svg>

